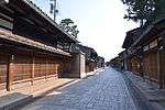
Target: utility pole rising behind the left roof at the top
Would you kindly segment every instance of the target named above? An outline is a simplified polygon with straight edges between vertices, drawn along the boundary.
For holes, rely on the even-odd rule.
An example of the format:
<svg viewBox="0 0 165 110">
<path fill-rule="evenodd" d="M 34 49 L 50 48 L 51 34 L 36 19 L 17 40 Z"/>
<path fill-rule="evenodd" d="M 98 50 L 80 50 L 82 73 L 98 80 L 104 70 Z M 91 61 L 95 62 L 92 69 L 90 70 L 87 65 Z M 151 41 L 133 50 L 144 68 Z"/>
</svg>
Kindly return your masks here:
<svg viewBox="0 0 165 110">
<path fill-rule="evenodd" d="M 50 0 L 50 1 L 51 1 L 51 11 L 50 11 L 50 13 L 54 14 L 54 21 L 56 21 L 56 13 L 58 13 L 58 10 L 56 9 L 57 1 L 56 0 Z"/>
</svg>

